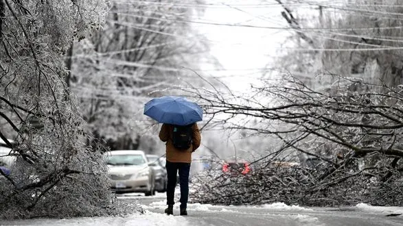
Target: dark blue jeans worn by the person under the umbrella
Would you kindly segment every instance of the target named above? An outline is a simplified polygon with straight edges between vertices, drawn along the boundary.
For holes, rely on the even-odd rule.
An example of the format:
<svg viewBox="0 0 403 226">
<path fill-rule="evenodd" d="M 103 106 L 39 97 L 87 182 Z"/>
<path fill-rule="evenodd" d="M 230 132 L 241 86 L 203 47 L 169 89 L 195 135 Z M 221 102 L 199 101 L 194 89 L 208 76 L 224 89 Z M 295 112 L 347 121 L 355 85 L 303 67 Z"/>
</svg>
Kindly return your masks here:
<svg viewBox="0 0 403 226">
<path fill-rule="evenodd" d="M 174 192 L 176 187 L 176 174 L 179 171 L 179 184 L 181 185 L 181 208 L 187 207 L 189 199 L 189 172 L 190 163 L 187 162 L 166 162 L 168 184 L 167 184 L 167 205 L 174 205 Z"/>
</svg>

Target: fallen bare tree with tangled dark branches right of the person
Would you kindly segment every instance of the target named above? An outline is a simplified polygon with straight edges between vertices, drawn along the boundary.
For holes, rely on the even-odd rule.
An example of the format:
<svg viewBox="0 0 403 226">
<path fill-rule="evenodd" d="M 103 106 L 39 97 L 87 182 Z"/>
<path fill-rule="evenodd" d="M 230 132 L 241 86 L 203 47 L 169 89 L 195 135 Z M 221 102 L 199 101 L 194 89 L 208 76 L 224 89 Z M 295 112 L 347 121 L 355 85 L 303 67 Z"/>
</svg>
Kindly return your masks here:
<svg viewBox="0 0 403 226">
<path fill-rule="evenodd" d="M 378 86 L 338 77 L 334 86 L 313 90 L 299 79 L 284 75 L 278 81 L 262 81 L 247 97 L 223 95 L 222 91 L 214 89 L 189 90 L 204 101 L 203 108 L 216 117 L 216 123 L 229 129 L 255 131 L 281 144 L 277 150 L 251 163 L 255 174 L 235 179 L 238 181 L 235 184 L 242 189 L 237 190 L 238 186 L 232 184 L 235 189 L 227 192 L 232 198 L 219 198 L 218 194 L 226 189 L 224 184 L 229 185 L 233 180 L 217 175 L 211 177 L 210 184 L 198 187 L 211 189 L 207 192 L 211 196 L 204 199 L 196 195 L 196 199 L 236 204 L 243 197 L 249 203 L 287 200 L 288 203 L 318 205 L 319 199 L 327 198 L 326 205 L 351 205 L 360 201 L 401 205 L 397 197 L 401 197 L 403 190 L 400 184 L 402 89 Z M 299 158 L 301 154 L 306 159 L 317 160 L 312 169 Z M 273 166 L 278 159 L 297 162 L 298 166 Z M 281 181 L 273 184 L 277 177 L 282 178 Z M 290 193 L 271 196 L 273 192 L 285 192 L 284 189 Z M 269 192 L 267 197 L 271 198 L 244 197 L 242 190 L 248 194 Z"/>
</svg>

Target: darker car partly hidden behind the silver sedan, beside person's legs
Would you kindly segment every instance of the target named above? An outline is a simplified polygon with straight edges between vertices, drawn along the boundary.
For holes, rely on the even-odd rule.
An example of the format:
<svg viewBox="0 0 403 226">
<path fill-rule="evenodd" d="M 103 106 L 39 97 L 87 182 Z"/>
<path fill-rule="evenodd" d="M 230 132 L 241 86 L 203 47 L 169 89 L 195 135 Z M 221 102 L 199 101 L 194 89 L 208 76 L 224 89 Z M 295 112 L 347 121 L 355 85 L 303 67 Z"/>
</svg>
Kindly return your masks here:
<svg viewBox="0 0 403 226">
<path fill-rule="evenodd" d="M 146 155 L 149 166 L 154 171 L 155 190 L 157 192 L 165 192 L 167 190 L 168 177 L 165 168 L 165 160 L 159 155 Z"/>
</svg>

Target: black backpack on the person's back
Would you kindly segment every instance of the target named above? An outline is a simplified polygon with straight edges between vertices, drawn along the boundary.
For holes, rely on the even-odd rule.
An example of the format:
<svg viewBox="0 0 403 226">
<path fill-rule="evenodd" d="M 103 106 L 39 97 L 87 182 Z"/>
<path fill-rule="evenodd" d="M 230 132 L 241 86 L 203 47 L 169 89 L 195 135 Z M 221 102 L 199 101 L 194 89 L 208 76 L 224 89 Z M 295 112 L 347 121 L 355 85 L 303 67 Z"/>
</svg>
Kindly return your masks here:
<svg viewBox="0 0 403 226">
<path fill-rule="evenodd" d="M 176 149 L 187 150 L 192 145 L 193 124 L 173 125 L 172 144 Z"/>
</svg>

